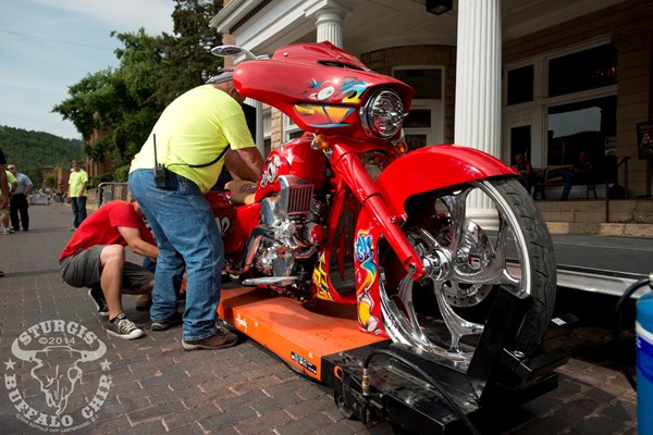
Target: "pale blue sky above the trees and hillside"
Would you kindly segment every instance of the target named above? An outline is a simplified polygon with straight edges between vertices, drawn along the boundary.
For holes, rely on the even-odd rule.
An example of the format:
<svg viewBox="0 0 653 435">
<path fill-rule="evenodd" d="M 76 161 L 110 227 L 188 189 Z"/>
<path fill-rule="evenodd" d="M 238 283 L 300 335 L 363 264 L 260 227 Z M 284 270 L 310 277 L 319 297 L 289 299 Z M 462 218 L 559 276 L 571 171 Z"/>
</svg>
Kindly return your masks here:
<svg viewBox="0 0 653 435">
<path fill-rule="evenodd" d="M 0 125 L 81 139 L 51 113 L 69 87 L 118 67 L 110 33 L 172 34 L 173 0 L 0 0 Z"/>
</svg>

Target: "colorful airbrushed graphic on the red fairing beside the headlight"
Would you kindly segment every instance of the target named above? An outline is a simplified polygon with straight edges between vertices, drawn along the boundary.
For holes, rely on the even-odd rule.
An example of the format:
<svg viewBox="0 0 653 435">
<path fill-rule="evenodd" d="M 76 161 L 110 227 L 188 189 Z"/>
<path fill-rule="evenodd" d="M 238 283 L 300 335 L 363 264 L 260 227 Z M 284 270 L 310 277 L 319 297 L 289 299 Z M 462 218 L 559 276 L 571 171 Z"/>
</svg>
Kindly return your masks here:
<svg viewBox="0 0 653 435">
<path fill-rule="evenodd" d="M 295 113 L 312 126 L 349 126 L 357 117 L 353 116 L 350 121 L 347 121 L 347 116 L 355 112 L 355 108 L 346 104 L 360 102 L 360 97 L 368 86 L 369 84 L 355 77 L 343 77 L 322 83 L 313 79 L 308 99 L 320 101 L 320 103 L 295 104 Z"/>
</svg>

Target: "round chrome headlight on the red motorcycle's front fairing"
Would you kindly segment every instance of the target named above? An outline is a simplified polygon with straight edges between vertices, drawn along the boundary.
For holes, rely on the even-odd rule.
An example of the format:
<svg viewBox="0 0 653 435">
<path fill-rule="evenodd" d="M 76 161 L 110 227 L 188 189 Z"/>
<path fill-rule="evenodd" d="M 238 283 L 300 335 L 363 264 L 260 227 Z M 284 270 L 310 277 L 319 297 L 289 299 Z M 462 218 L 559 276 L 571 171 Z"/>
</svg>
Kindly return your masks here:
<svg viewBox="0 0 653 435">
<path fill-rule="evenodd" d="M 393 137 L 404 122 L 402 99 L 394 90 L 378 91 L 360 108 L 360 121 L 368 136 L 382 139 Z"/>
</svg>

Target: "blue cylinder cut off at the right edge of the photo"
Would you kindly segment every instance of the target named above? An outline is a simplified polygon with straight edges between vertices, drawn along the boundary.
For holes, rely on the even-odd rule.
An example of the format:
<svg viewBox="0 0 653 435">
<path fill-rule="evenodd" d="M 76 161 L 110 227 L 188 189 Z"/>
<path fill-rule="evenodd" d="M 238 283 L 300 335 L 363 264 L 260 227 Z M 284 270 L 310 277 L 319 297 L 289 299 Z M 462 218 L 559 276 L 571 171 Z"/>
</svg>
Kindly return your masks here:
<svg viewBox="0 0 653 435">
<path fill-rule="evenodd" d="M 637 425 L 640 435 L 653 434 L 653 294 L 637 301 Z"/>
</svg>

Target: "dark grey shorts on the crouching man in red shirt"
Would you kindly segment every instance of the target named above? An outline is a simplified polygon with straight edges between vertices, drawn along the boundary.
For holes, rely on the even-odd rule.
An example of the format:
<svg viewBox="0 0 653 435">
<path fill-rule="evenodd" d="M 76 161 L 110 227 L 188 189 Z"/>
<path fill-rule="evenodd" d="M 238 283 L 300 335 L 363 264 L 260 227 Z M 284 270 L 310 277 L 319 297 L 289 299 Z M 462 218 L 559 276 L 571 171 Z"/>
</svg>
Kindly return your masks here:
<svg viewBox="0 0 653 435">
<path fill-rule="evenodd" d="M 84 249 L 61 260 L 61 277 L 77 288 L 100 288 L 100 253 L 104 245 Z M 123 266 L 123 288 L 138 291 L 155 279 L 155 274 L 143 268 L 125 261 Z"/>
</svg>

